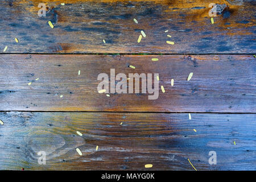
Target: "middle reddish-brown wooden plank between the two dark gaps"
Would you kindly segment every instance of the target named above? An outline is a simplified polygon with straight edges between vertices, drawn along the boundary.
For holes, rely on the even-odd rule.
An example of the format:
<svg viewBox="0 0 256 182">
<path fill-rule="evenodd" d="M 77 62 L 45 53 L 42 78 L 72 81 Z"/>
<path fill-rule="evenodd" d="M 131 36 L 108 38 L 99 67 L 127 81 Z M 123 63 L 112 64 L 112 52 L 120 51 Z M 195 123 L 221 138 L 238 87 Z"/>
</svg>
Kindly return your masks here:
<svg viewBox="0 0 256 182">
<path fill-rule="evenodd" d="M 98 75 L 110 76 L 112 68 L 127 77 L 159 73 L 158 99 L 148 100 L 148 92 L 98 93 Z M 2 111 L 256 112 L 250 55 L 1 55 L 0 69 Z"/>
</svg>

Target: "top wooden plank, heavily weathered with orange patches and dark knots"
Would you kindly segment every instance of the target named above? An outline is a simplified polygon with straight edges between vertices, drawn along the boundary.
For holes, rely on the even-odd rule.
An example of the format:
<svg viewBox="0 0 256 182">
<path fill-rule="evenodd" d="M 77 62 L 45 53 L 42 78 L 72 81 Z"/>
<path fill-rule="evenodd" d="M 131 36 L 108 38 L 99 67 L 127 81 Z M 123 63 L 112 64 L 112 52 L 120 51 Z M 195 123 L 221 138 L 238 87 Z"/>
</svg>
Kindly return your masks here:
<svg viewBox="0 0 256 182">
<path fill-rule="evenodd" d="M 1 52 L 5 46 L 6 53 L 254 53 L 256 48 L 251 0 L 46 0 L 46 17 L 38 16 L 41 2 L 0 1 Z M 228 5 L 213 17 L 214 24 L 210 3 Z M 138 43 L 141 30 L 146 38 Z"/>
</svg>

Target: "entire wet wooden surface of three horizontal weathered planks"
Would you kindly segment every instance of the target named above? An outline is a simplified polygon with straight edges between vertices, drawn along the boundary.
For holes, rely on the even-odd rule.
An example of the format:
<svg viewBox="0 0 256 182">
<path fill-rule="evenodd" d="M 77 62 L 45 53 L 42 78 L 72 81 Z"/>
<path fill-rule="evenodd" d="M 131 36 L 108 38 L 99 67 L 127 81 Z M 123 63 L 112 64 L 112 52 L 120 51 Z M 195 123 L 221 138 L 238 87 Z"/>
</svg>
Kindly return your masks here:
<svg viewBox="0 0 256 182">
<path fill-rule="evenodd" d="M 1 170 L 256 170 L 255 1 L 41 2 L 0 0 Z M 228 6 L 214 24 L 210 3 Z M 166 93 L 106 97 L 110 68 Z"/>
</svg>

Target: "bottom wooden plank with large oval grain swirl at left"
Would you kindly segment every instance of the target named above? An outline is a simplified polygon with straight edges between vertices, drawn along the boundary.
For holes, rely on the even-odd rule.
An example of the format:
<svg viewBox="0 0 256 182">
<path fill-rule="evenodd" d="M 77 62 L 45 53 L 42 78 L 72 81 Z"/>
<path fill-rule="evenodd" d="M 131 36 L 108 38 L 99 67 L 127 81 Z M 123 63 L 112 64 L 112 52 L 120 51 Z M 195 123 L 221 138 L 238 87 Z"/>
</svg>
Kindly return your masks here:
<svg viewBox="0 0 256 182">
<path fill-rule="evenodd" d="M 187 113 L 6 112 L 0 119 L 0 169 L 194 170 L 187 159 L 198 170 L 256 169 L 256 114 L 189 120 Z M 38 164 L 39 151 L 46 165 Z M 209 151 L 216 151 L 216 165 L 208 163 Z"/>
</svg>

